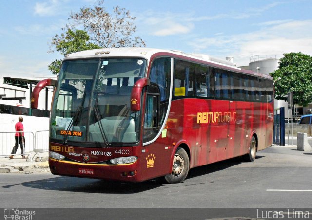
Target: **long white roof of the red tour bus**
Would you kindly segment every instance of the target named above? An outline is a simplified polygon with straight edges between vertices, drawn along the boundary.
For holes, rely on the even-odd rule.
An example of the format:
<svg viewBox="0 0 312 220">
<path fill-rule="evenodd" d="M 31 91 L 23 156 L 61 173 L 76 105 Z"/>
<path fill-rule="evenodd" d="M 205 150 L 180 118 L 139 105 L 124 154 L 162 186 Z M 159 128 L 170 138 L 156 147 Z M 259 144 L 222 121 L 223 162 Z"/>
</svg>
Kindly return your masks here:
<svg viewBox="0 0 312 220">
<path fill-rule="evenodd" d="M 84 58 L 104 58 L 104 57 L 143 57 L 148 60 L 151 59 L 153 55 L 162 54 L 162 55 L 175 55 L 180 58 L 185 58 L 188 60 L 193 60 L 200 62 L 202 64 L 212 65 L 218 68 L 231 70 L 234 72 L 252 74 L 263 78 L 272 79 L 271 76 L 261 73 L 254 73 L 251 70 L 241 69 L 234 66 L 234 64 L 227 60 L 222 60 L 215 58 L 209 55 L 204 54 L 194 54 L 194 53 L 184 53 L 182 51 L 176 50 L 162 50 L 155 48 L 146 48 L 146 47 L 122 47 L 122 48 L 100 48 L 94 50 L 80 51 L 72 54 L 65 55 L 65 60 L 72 59 L 84 59 Z"/>
</svg>

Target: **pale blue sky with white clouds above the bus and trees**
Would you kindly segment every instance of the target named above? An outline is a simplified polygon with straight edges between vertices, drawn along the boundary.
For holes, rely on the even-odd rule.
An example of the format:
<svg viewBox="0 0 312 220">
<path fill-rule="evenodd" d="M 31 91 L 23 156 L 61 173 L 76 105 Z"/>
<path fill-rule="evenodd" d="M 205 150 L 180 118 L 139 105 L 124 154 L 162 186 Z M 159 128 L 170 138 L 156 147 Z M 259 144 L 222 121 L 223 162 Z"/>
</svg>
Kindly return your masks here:
<svg viewBox="0 0 312 220">
<path fill-rule="evenodd" d="M 5 1 L 5 0 L 2 0 Z M 48 53 L 71 13 L 96 0 L 9 0 L 0 5 L 0 77 L 53 76 Z M 312 55 L 312 0 L 105 0 L 136 17 L 146 46 L 247 66 L 254 55 Z"/>
</svg>

